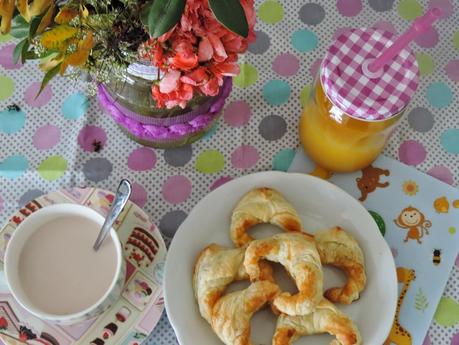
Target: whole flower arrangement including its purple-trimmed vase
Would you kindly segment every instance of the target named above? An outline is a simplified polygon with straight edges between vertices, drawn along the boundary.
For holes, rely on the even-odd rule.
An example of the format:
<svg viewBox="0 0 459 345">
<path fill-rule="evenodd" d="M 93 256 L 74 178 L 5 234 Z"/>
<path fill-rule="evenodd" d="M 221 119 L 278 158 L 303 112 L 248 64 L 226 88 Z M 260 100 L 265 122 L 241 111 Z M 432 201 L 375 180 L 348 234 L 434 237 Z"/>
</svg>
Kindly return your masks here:
<svg viewBox="0 0 459 345">
<path fill-rule="evenodd" d="M 15 61 L 39 59 L 40 92 L 56 75 L 89 75 L 88 92 L 133 139 L 199 139 L 218 118 L 255 39 L 253 0 L 0 0 Z"/>
</svg>

